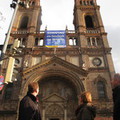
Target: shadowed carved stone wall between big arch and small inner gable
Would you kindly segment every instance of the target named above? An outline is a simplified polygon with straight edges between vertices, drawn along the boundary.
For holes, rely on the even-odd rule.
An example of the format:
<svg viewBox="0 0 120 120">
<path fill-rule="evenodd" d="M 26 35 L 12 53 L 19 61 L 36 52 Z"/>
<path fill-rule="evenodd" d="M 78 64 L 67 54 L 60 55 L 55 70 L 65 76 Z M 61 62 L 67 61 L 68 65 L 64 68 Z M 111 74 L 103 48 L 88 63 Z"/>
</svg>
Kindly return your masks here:
<svg viewBox="0 0 120 120">
<path fill-rule="evenodd" d="M 41 98 L 45 98 L 53 93 L 60 95 L 68 101 L 75 100 L 76 93 L 73 86 L 66 81 L 58 80 L 59 78 L 52 77 L 50 80 L 40 83 Z"/>
</svg>

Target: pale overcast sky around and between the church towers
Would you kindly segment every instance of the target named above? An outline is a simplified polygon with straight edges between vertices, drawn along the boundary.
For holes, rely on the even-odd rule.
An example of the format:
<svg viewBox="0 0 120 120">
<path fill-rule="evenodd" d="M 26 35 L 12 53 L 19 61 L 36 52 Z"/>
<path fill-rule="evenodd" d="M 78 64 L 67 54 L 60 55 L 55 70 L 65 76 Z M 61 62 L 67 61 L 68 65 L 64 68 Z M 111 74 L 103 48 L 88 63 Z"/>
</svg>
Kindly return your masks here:
<svg viewBox="0 0 120 120">
<path fill-rule="evenodd" d="M 13 9 L 12 0 L 0 0 L 0 44 L 5 40 Z M 120 0 L 97 0 L 100 12 L 112 47 L 112 56 L 116 72 L 120 73 Z M 44 30 L 73 30 L 74 0 L 41 0 L 42 26 Z"/>
</svg>

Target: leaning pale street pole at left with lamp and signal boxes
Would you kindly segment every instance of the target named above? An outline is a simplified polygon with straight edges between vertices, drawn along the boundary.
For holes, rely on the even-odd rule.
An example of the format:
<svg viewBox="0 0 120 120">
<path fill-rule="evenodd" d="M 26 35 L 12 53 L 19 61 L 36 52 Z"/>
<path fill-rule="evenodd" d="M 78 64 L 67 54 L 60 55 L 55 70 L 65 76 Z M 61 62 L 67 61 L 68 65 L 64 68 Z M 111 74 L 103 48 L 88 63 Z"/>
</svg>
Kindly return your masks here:
<svg viewBox="0 0 120 120">
<path fill-rule="evenodd" d="M 15 20 L 16 13 L 17 13 L 19 5 L 22 6 L 22 7 L 25 7 L 25 8 L 29 7 L 28 2 L 26 4 L 24 4 L 24 2 L 22 2 L 21 0 L 13 0 L 12 4 L 10 4 L 10 7 L 14 8 L 14 12 L 13 12 L 13 15 L 12 15 L 12 19 L 11 19 L 11 22 L 10 22 L 10 25 L 9 25 L 9 28 L 8 28 L 8 32 L 7 32 L 7 35 L 6 35 L 6 38 L 5 38 L 5 41 L 4 41 L 4 45 L 3 45 L 3 49 L 1 51 L 1 56 L 0 56 L 0 75 L 1 76 L 2 76 L 2 62 L 3 62 L 4 59 L 9 58 L 4 83 L 12 82 L 12 74 L 13 74 L 14 63 L 15 63 L 15 58 L 13 58 L 13 55 L 14 55 L 13 52 L 15 52 L 15 53 L 19 52 L 19 50 L 17 48 L 19 47 L 20 41 L 15 40 L 14 44 L 12 46 L 12 49 L 13 49 L 12 52 L 11 52 L 12 56 L 5 57 L 5 52 L 7 50 L 7 46 L 8 46 L 8 42 L 9 42 L 9 38 L 10 38 L 10 33 L 11 33 L 11 30 L 12 30 L 13 22 Z"/>
</svg>

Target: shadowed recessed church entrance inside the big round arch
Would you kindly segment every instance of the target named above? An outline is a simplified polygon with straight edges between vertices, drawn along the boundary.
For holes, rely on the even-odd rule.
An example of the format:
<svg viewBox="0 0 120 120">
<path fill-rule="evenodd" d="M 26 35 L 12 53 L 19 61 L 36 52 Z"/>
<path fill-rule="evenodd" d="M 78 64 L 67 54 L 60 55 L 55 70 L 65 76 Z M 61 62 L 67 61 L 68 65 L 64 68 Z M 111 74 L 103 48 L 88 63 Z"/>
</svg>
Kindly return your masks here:
<svg viewBox="0 0 120 120">
<path fill-rule="evenodd" d="M 75 85 L 62 76 L 48 76 L 39 81 L 42 120 L 71 120 L 78 105 Z"/>
</svg>

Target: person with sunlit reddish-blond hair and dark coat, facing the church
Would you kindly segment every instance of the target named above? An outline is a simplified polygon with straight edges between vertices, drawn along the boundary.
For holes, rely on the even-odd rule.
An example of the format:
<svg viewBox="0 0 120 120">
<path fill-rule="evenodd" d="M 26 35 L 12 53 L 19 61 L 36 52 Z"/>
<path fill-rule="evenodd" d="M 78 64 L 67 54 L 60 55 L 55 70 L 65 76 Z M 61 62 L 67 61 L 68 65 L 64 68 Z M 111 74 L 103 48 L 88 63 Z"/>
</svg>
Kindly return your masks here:
<svg viewBox="0 0 120 120">
<path fill-rule="evenodd" d="M 96 108 L 92 104 L 90 92 L 83 92 L 80 96 L 80 105 L 75 111 L 77 120 L 94 120 Z"/>
</svg>

